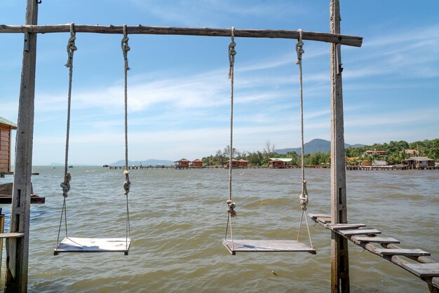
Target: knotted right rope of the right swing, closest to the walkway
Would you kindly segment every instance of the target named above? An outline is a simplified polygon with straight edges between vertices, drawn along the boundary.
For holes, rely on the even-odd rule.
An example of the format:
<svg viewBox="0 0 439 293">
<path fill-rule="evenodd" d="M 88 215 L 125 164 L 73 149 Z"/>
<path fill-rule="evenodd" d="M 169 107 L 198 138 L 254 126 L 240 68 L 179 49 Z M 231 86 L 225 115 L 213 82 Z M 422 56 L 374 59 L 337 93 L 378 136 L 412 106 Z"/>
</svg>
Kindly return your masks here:
<svg viewBox="0 0 439 293">
<path fill-rule="evenodd" d="M 296 64 L 299 65 L 299 85 L 300 85 L 300 139 L 301 139 L 301 148 L 300 148 L 300 156 L 301 156 L 301 172 L 302 172 L 302 194 L 300 194 L 300 205 L 302 207 L 302 217 L 300 218 L 299 231 L 297 233 L 297 241 L 299 241 L 300 229 L 302 228 L 302 220 L 305 216 L 306 221 L 306 229 L 308 229 L 309 243 L 311 244 L 311 248 L 313 248 L 313 243 L 311 242 L 311 233 L 309 232 L 308 219 L 306 217 L 306 205 L 308 205 L 308 191 L 306 189 L 306 180 L 305 180 L 305 165 L 304 165 L 304 95 L 303 95 L 303 79 L 302 79 L 302 54 L 305 53 L 303 46 L 304 42 L 302 41 L 302 29 L 299 29 L 299 39 L 297 39 L 296 43 L 296 53 L 297 53 L 297 61 Z"/>
</svg>

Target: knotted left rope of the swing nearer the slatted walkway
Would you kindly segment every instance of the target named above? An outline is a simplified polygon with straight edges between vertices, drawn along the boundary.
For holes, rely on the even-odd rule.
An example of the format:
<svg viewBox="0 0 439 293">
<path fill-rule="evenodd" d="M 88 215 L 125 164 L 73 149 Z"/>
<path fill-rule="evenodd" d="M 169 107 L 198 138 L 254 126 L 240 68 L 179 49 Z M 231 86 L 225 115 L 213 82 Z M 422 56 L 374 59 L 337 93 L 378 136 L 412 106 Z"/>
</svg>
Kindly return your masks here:
<svg viewBox="0 0 439 293">
<path fill-rule="evenodd" d="M 231 170 L 234 154 L 234 64 L 235 64 L 235 27 L 231 27 L 231 41 L 229 43 L 229 79 L 230 79 L 230 149 L 229 149 L 229 199 L 227 200 L 227 226 L 224 240 L 227 238 L 227 228 L 230 224 L 232 250 L 234 249 L 234 234 L 231 219 L 236 217 L 236 204 L 231 199 Z"/>
</svg>

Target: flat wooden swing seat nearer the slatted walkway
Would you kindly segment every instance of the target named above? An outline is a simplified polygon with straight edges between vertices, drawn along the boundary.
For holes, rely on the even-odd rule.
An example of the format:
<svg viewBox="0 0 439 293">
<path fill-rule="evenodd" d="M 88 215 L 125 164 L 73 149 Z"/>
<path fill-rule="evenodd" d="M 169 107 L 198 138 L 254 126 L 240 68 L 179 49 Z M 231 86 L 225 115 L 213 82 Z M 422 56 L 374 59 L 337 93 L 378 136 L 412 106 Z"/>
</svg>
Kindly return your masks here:
<svg viewBox="0 0 439 293">
<path fill-rule="evenodd" d="M 295 240 L 222 240 L 222 244 L 233 255 L 236 252 L 309 252 L 316 250 Z"/>
</svg>

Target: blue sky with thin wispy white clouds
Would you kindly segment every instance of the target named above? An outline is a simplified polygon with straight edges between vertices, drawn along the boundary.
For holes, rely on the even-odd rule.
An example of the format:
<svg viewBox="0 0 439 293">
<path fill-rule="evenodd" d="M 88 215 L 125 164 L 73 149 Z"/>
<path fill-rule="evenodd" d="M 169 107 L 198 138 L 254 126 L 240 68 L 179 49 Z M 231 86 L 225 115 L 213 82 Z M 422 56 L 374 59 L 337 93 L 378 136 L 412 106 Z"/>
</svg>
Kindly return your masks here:
<svg viewBox="0 0 439 293">
<path fill-rule="evenodd" d="M 439 137 L 439 1 L 341 1 L 345 142 L 412 142 Z M 303 29 L 329 32 L 330 1 L 49 1 L 39 25 L 151 25 Z M 0 23 L 21 25 L 25 1 L 1 1 Z M 16 121 L 22 34 L 0 34 L 0 116 Z M 39 34 L 34 165 L 62 163 L 69 34 Z M 76 34 L 70 163 L 122 159 L 121 35 Z M 130 160 L 178 160 L 229 144 L 226 37 L 130 35 Z M 295 40 L 236 38 L 234 147 L 299 147 Z M 305 41 L 305 142 L 330 139 L 329 45 Z"/>
</svg>

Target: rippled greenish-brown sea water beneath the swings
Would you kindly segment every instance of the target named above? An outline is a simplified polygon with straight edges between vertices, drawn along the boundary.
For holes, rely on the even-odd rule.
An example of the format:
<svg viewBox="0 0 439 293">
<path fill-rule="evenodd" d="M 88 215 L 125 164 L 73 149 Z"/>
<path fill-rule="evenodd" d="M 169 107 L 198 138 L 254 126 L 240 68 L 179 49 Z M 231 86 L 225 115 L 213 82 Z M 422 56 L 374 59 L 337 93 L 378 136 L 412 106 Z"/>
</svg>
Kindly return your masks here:
<svg viewBox="0 0 439 293">
<path fill-rule="evenodd" d="M 69 236 L 125 237 L 123 171 L 75 167 Z M 132 170 L 130 254 L 53 256 L 63 168 L 34 167 L 29 292 L 328 292 L 330 233 L 311 225 L 317 254 L 231 256 L 222 246 L 228 170 Z M 362 222 L 439 259 L 438 171 L 348 171 L 349 222 Z M 330 172 L 306 170 L 310 213 L 330 212 Z M 0 179 L 0 183 L 11 181 Z M 234 237 L 295 239 L 299 170 L 234 170 Z M 10 205 L 2 205 L 7 216 Z M 306 241 L 306 233 L 302 233 Z M 4 257 L 4 259 L 6 259 Z M 426 283 L 349 245 L 353 292 L 426 292 Z M 4 265 L 3 265 L 4 266 Z M 276 272 L 276 275 L 272 273 Z M 4 273 L 4 267 L 2 268 Z M 0 285 L 4 285 L 4 277 Z"/>
</svg>

